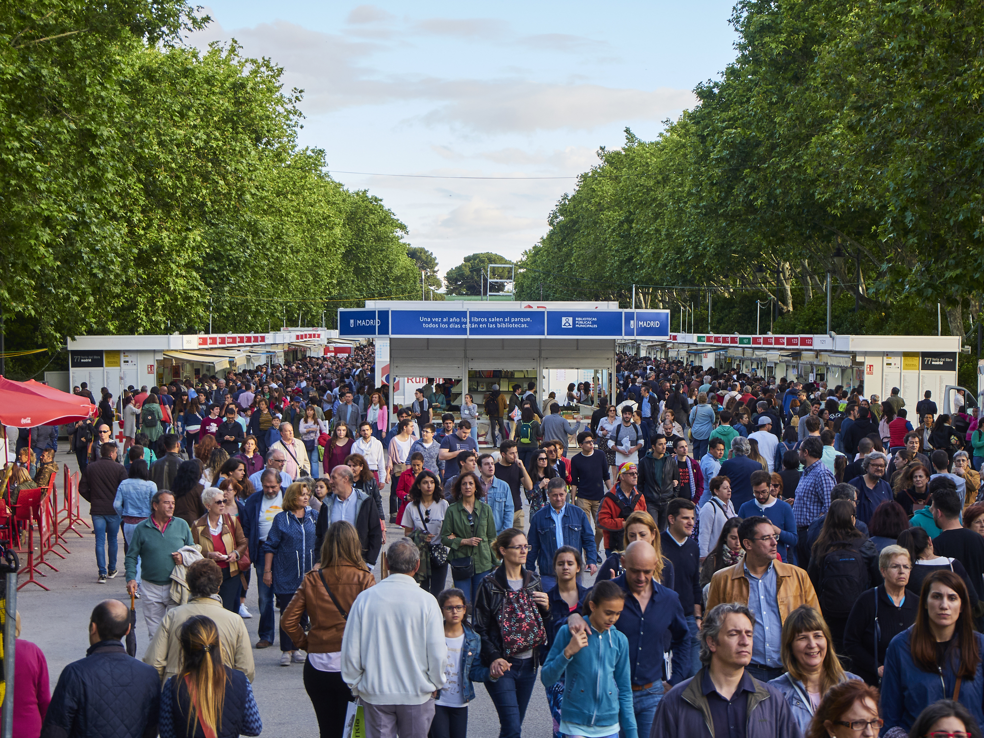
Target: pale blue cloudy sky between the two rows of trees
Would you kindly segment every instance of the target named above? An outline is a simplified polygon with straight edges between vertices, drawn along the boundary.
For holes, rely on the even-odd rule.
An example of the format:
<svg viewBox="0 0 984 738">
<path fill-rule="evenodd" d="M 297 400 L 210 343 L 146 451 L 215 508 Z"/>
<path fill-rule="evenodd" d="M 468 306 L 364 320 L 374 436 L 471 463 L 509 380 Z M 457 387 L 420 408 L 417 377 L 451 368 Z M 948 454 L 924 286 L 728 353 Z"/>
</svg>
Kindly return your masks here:
<svg viewBox="0 0 984 738">
<path fill-rule="evenodd" d="M 735 56 L 732 2 L 214 0 L 189 40 L 281 66 L 304 91 L 300 145 L 444 274 L 476 252 L 519 259 L 600 147 L 693 107 Z"/>
</svg>

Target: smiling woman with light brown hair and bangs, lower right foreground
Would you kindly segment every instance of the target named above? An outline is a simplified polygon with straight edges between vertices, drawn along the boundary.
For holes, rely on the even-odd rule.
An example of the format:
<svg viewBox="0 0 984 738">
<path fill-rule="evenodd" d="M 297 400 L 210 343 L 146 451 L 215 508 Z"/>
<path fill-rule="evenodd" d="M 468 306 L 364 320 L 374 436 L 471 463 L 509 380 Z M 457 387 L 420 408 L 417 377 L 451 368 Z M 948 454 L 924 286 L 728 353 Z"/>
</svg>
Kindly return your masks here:
<svg viewBox="0 0 984 738">
<path fill-rule="evenodd" d="M 782 624 L 780 657 L 786 673 L 769 684 L 785 698 L 804 733 L 830 687 L 861 679 L 844 671 L 833 651 L 824 616 L 810 605 L 800 605 Z"/>
</svg>

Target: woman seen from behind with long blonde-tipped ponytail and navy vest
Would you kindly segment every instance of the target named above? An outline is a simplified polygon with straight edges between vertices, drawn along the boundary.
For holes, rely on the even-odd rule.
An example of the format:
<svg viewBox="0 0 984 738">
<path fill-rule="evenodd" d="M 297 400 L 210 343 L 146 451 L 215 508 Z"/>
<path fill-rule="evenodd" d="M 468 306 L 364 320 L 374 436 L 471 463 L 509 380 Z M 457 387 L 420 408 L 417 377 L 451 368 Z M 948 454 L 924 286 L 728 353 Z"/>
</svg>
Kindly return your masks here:
<svg viewBox="0 0 984 738">
<path fill-rule="evenodd" d="M 161 738 L 260 735 L 263 721 L 246 675 L 222 663 L 215 622 L 193 615 L 181 626 L 182 666 L 164 682 Z"/>
</svg>

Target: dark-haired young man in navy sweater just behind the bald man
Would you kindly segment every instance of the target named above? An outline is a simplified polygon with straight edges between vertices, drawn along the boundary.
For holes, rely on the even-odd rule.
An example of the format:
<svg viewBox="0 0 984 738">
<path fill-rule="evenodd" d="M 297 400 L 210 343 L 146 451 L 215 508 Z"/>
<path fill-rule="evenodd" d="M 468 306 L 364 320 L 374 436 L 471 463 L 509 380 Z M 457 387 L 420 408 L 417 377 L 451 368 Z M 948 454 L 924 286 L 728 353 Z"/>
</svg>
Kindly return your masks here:
<svg viewBox="0 0 984 738">
<path fill-rule="evenodd" d="M 690 657 L 684 664 L 682 675 L 687 679 L 701 668 L 697 635 L 704 620 L 701 547 L 690 537 L 697 523 L 697 506 L 682 497 L 670 500 L 666 507 L 666 522 L 669 526 L 666 528 L 668 535 L 663 537 L 663 556 L 673 564 L 673 588 L 680 595 L 680 604 L 690 629 Z"/>
</svg>

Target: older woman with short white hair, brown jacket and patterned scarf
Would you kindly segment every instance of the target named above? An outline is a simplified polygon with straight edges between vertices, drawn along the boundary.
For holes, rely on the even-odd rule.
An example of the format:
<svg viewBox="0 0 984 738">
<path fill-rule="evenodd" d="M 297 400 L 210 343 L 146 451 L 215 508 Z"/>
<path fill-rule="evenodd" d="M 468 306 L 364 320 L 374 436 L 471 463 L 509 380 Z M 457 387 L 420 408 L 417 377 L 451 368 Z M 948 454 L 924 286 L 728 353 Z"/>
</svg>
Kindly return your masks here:
<svg viewBox="0 0 984 738">
<path fill-rule="evenodd" d="M 212 559 L 222 570 L 218 596 L 222 607 L 239 612 L 239 560 L 246 555 L 248 542 L 239 518 L 228 515 L 225 492 L 208 487 L 202 492 L 202 504 L 208 511 L 191 526 L 191 538 L 202 547 L 202 556 Z"/>
</svg>

